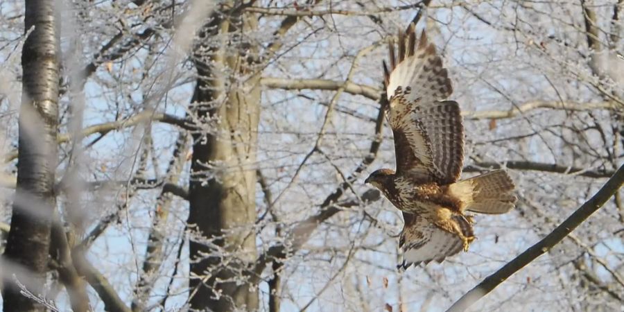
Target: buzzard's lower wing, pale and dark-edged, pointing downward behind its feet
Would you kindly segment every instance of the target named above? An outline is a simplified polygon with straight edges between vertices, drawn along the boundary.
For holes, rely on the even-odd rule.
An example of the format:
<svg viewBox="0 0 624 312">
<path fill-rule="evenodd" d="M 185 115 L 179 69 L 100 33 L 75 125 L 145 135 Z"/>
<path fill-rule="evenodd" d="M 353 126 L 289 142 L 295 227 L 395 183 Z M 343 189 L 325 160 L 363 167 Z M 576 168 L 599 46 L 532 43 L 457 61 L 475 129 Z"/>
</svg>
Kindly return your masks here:
<svg viewBox="0 0 624 312">
<path fill-rule="evenodd" d="M 405 225 L 399 239 L 399 248 L 403 250 L 403 261 L 399 269 L 409 268 L 412 264 L 437 261 L 440 263 L 447 257 L 457 254 L 463 249 L 462 239 L 456 234 L 449 233 L 436 227 L 429 220 L 419 214 L 403 213 Z M 453 216 L 458 223 L 462 234 L 473 236 L 472 225 L 462 216 Z"/>
</svg>

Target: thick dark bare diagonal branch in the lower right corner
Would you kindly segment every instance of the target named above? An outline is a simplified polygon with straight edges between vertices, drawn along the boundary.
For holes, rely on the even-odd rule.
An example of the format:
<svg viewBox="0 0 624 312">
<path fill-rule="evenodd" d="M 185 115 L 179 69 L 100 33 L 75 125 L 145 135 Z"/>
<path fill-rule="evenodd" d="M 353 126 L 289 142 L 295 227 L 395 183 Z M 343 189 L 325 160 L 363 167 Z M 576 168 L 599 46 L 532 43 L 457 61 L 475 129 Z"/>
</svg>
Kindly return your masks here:
<svg viewBox="0 0 624 312">
<path fill-rule="evenodd" d="M 576 227 L 578 227 L 584 220 L 587 220 L 591 214 L 596 212 L 600 207 L 605 205 L 605 202 L 616 193 L 622 183 L 624 182 L 624 165 L 618 168 L 618 171 L 607 181 L 607 183 L 587 202 L 585 202 L 578 210 L 569 216 L 561 225 L 548 234 L 544 239 L 532 245 L 525 252 L 521 253 L 518 257 L 508 262 L 503 268 L 494 272 L 494 274 L 486 277 L 480 284 L 472 288 L 468 293 L 463 295 L 457 302 L 455 302 L 447 312 L 460 312 L 468 309 L 469 306 L 477 302 L 480 298 L 484 297 L 490 291 L 494 290 L 496 286 L 503 283 L 506 279 L 514 275 L 524 266 L 531 263 L 537 257 L 541 256 L 545 252 L 548 252 L 553 246 L 557 245 L 562 239 L 570 234 Z"/>
</svg>

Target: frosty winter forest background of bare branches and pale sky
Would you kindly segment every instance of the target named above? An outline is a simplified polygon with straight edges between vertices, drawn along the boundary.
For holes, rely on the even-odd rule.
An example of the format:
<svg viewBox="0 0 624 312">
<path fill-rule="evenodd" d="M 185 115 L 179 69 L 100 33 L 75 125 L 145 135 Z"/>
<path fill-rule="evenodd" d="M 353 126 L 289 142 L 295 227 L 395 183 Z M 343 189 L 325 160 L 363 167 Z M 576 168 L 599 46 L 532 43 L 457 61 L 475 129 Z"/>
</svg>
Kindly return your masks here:
<svg viewBox="0 0 624 312">
<path fill-rule="evenodd" d="M 623 164 L 623 10 L 0 0 L 3 311 L 445 311 Z M 412 20 L 463 110 L 464 176 L 508 168 L 519 202 L 401 273 L 401 215 L 363 180 L 394 166 L 381 61 Z M 622 195 L 471 311 L 621 311 Z"/>
</svg>

